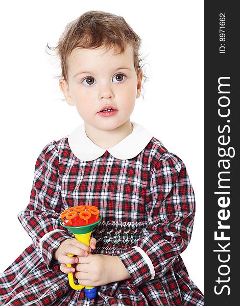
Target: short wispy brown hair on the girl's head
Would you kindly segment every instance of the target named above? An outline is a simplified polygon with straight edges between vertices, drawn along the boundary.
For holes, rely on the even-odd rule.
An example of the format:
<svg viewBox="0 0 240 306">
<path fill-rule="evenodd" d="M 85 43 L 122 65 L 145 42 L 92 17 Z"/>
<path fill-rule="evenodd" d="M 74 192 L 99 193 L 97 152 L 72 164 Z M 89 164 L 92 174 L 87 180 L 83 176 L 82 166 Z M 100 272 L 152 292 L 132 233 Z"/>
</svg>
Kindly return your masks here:
<svg viewBox="0 0 240 306">
<path fill-rule="evenodd" d="M 139 69 L 143 67 L 140 66 L 143 59 L 139 59 L 141 38 L 122 16 L 102 11 L 88 11 L 66 25 L 56 47 L 50 47 L 49 44 L 46 47 L 56 51 L 61 62 L 60 77 L 67 82 L 68 57 L 74 48 L 94 49 L 105 46 L 108 51 L 114 47 L 115 52 L 119 49 L 119 53 L 115 54 L 122 54 L 127 43 L 132 45 L 134 67 L 138 76 Z M 148 79 L 145 74 L 143 78 L 145 81 Z"/>
</svg>

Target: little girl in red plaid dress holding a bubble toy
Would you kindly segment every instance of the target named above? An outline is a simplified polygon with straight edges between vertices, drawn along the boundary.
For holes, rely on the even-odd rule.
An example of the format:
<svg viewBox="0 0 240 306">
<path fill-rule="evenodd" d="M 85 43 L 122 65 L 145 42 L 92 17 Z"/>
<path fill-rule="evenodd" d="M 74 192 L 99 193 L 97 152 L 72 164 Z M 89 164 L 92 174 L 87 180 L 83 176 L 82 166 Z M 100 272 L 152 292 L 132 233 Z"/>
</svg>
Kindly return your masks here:
<svg viewBox="0 0 240 306">
<path fill-rule="evenodd" d="M 84 123 L 37 159 L 18 215 L 33 243 L 2 274 L 1 305 L 204 305 L 180 257 L 195 215 L 186 168 L 130 120 L 142 86 L 140 43 L 123 17 L 101 11 L 60 37 L 60 89 Z M 77 205 L 102 216 L 90 247 L 60 225 L 60 213 Z M 98 287 L 94 299 L 70 288 L 73 271 L 81 285 Z"/>
</svg>

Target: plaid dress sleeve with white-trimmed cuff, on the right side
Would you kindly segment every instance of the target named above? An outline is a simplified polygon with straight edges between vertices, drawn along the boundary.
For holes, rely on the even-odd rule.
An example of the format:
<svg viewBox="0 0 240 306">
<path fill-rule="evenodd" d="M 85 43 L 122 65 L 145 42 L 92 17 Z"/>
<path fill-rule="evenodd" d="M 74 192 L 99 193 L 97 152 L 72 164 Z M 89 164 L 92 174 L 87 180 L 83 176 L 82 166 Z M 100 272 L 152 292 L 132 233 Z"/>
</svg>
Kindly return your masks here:
<svg viewBox="0 0 240 306">
<path fill-rule="evenodd" d="M 195 197 L 183 162 L 167 154 L 154 168 L 146 190 L 148 227 L 137 244 L 118 254 L 135 286 L 161 277 L 187 247 Z"/>
</svg>

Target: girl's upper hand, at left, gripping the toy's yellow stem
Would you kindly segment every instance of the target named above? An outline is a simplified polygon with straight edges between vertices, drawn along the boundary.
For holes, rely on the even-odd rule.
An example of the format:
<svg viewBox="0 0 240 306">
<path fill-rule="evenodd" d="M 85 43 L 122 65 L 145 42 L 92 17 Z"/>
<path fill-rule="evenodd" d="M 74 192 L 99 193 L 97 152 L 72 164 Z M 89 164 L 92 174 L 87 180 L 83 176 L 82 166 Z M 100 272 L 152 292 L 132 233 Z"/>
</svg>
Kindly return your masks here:
<svg viewBox="0 0 240 306">
<path fill-rule="evenodd" d="M 68 257 L 67 254 L 75 254 L 79 257 L 87 257 L 91 249 L 95 249 L 97 240 L 90 238 L 90 247 L 78 241 L 76 238 L 64 240 L 60 246 L 54 251 L 53 258 L 61 263 L 60 270 L 63 273 L 75 272 L 74 267 L 67 267 L 66 264 L 76 264 L 77 257 Z"/>
</svg>

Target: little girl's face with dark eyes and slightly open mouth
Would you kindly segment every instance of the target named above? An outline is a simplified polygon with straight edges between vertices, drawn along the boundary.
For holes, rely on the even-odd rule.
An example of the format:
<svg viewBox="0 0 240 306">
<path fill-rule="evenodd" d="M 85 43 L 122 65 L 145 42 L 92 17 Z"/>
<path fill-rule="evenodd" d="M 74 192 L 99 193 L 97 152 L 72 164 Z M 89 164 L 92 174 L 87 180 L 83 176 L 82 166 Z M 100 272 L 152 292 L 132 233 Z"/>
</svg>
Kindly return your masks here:
<svg viewBox="0 0 240 306">
<path fill-rule="evenodd" d="M 61 79 L 59 86 L 85 124 L 114 130 L 130 122 L 135 99 L 140 96 L 141 80 L 142 71 L 137 77 L 132 46 L 128 44 L 119 55 L 114 55 L 114 48 L 108 52 L 105 47 L 75 48 L 68 58 L 68 84 Z M 116 111 L 103 116 L 99 113 L 102 108 Z"/>
</svg>

